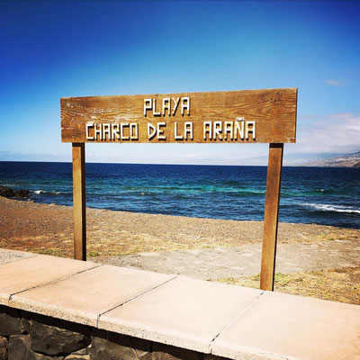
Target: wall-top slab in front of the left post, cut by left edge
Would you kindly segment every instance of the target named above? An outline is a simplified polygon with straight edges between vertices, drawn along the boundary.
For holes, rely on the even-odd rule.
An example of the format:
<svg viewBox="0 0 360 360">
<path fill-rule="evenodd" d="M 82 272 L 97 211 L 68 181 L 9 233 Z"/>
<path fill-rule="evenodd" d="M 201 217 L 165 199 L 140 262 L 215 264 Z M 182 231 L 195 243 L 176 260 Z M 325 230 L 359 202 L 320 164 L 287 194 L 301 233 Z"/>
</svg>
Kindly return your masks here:
<svg viewBox="0 0 360 360">
<path fill-rule="evenodd" d="M 62 257 L 35 255 L 0 265 L 0 304 L 8 305 L 14 293 L 48 284 L 64 276 L 99 266 Z"/>
</svg>

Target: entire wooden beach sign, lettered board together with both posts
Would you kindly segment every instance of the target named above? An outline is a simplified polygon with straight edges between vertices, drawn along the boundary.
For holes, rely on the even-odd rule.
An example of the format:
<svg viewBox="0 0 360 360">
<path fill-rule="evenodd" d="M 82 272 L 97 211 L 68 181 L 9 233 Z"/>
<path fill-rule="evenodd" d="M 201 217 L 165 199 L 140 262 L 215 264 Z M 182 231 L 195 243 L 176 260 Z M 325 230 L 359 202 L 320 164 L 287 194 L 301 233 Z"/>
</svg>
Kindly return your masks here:
<svg viewBox="0 0 360 360">
<path fill-rule="evenodd" d="M 85 142 L 269 143 L 260 288 L 274 290 L 284 143 L 295 142 L 297 88 L 61 98 L 73 143 L 74 257 L 86 260 Z"/>
</svg>

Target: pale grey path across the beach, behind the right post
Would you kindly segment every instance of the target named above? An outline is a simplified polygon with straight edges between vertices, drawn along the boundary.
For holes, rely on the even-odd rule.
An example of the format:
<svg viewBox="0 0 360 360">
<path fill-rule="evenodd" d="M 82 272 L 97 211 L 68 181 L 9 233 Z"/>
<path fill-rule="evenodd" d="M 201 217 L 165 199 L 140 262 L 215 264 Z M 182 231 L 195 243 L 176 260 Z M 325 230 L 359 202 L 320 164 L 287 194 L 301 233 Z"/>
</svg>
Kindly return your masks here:
<svg viewBox="0 0 360 360">
<path fill-rule="evenodd" d="M 107 265 L 187 275 L 202 280 L 242 277 L 260 272 L 261 245 L 139 253 L 121 257 L 94 257 L 92 260 Z M 280 244 L 277 247 L 277 273 L 351 266 L 360 266 L 358 239 Z"/>
</svg>

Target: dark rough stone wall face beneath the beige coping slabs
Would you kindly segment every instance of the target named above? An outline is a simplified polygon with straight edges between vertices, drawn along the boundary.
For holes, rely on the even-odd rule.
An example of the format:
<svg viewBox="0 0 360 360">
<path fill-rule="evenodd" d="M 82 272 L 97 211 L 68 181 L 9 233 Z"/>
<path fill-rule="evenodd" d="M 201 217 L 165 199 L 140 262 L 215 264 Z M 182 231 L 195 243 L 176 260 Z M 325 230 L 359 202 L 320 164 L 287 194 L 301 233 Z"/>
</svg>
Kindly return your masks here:
<svg viewBox="0 0 360 360">
<path fill-rule="evenodd" d="M 0 305 L 0 360 L 225 360 Z"/>
</svg>

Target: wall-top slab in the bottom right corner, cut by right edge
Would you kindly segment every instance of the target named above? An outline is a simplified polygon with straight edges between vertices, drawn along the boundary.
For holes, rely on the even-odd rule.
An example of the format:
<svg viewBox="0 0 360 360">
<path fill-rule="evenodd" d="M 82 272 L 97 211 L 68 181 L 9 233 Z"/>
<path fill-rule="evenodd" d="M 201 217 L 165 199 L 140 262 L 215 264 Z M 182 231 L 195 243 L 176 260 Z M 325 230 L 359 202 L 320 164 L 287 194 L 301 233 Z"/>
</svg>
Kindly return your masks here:
<svg viewBox="0 0 360 360">
<path fill-rule="evenodd" d="M 360 306 L 266 292 L 211 353 L 231 359 L 360 359 Z"/>
</svg>

